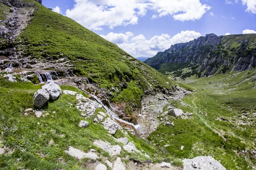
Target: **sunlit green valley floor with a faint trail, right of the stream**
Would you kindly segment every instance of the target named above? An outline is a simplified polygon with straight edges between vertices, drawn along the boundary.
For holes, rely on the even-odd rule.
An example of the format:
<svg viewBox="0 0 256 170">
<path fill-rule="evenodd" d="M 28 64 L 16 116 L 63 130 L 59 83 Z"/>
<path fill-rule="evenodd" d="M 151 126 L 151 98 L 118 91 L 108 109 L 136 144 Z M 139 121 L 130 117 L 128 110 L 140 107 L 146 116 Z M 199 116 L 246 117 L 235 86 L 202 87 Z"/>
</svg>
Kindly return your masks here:
<svg viewBox="0 0 256 170">
<path fill-rule="evenodd" d="M 210 78 L 190 77 L 182 81 L 198 89 L 183 99 L 191 107 L 182 106 L 179 101 L 171 104 L 184 112 L 194 113 L 193 119 L 169 116 L 175 126 L 160 125 L 148 139 L 159 146 L 170 144 L 166 150 L 178 158 L 212 156 L 228 170 L 251 170 L 256 159 L 250 153 L 243 155 L 241 152 L 255 147 L 256 119 L 253 113 L 256 111 L 256 98 L 255 83 L 251 77 L 256 71 L 247 74 L 248 71 L 244 71 L 236 77 L 233 74 L 217 74 Z M 244 116 L 244 113 L 250 115 Z M 216 120 L 218 118 L 227 121 Z M 252 124 L 237 125 L 238 120 Z M 180 150 L 181 146 L 184 146 L 183 150 Z M 241 155 L 238 156 L 234 150 Z"/>
</svg>

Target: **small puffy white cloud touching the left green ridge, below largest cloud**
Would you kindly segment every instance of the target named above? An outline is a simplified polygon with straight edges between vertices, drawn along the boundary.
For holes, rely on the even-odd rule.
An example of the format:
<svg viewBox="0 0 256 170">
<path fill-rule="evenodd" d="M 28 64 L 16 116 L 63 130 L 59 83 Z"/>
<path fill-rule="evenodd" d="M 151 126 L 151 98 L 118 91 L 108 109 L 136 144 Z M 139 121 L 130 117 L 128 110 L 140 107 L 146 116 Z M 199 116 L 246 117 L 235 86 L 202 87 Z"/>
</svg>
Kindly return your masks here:
<svg viewBox="0 0 256 170">
<path fill-rule="evenodd" d="M 105 38 L 108 41 L 111 41 L 115 44 L 122 44 L 128 41 L 129 37 L 133 37 L 134 34 L 132 32 L 126 32 L 125 34 L 116 34 L 113 32 L 108 33 L 108 35 L 100 35 L 101 37 Z"/>
</svg>

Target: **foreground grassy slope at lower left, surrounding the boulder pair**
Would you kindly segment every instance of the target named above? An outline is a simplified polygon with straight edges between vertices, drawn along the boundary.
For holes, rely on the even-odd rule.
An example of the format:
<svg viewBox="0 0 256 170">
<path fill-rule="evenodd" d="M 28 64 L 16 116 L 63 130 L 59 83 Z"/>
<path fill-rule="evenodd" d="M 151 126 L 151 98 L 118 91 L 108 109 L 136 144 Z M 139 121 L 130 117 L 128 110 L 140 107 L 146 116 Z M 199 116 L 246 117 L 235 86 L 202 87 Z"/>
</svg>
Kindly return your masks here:
<svg viewBox="0 0 256 170">
<path fill-rule="evenodd" d="M 84 152 L 89 152 L 95 148 L 99 156 L 108 157 L 110 161 L 115 160 L 108 153 L 102 152 L 93 146 L 95 139 L 108 141 L 113 145 L 120 144 L 108 136 L 107 130 L 100 124 L 94 124 L 93 119 L 87 118 L 90 123 L 87 128 L 80 128 L 78 124 L 82 120 L 81 112 L 76 109 L 76 96 L 62 94 L 60 98 L 44 107 L 44 113 L 49 113 L 46 117 L 37 118 L 32 113 L 29 116 L 23 116 L 24 110 L 33 108 L 33 94 L 42 85 L 33 85 L 31 82 L 8 82 L 0 79 L 0 147 L 3 145 L 15 150 L 12 155 L 0 155 L 0 169 L 34 169 L 53 170 L 55 168 L 64 168 L 66 170 L 84 169 L 87 160 L 77 160 L 64 153 L 69 146 L 73 146 Z M 61 86 L 62 90 L 73 90 L 84 94 L 76 88 L 70 86 Z M 73 106 L 70 107 L 71 103 Z M 102 110 L 97 110 L 99 112 Z M 104 110 L 105 111 L 105 110 Z M 96 113 L 97 114 L 97 113 Z M 116 133 L 117 138 L 124 137 L 120 130 Z M 144 150 L 151 156 L 153 161 L 170 158 L 166 153 L 151 147 L 142 139 L 137 139 L 129 133 L 129 141 L 133 141 L 137 149 Z M 49 145 L 53 140 L 54 144 Z M 122 146 L 122 144 L 120 144 Z M 140 154 L 127 153 L 122 150 L 121 157 L 147 160 Z M 64 158 L 66 165 L 56 164 L 58 158 Z M 20 159 L 20 161 L 17 161 Z M 125 159 L 124 161 L 128 161 Z M 63 162 L 63 163 L 64 163 Z M 180 165 L 179 161 L 176 161 Z"/>
</svg>

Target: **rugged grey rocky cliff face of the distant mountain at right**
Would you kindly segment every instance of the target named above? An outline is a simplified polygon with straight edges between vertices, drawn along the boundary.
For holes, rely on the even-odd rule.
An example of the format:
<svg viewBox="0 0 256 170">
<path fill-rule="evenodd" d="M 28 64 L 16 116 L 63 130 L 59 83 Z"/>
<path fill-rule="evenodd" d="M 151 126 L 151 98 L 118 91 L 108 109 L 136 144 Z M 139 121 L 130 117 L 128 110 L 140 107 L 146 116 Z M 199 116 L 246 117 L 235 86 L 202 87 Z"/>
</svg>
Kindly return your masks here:
<svg viewBox="0 0 256 170">
<path fill-rule="evenodd" d="M 164 52 L 147 59 L 146 64 L 166 73 L 173 66 L 183 68 L 197 66 L 194 73 L 200 77 L 215 74 L 217 71 L 251 70 L 256 66 L 256 34 L 217 36 L 207 34 L 186 43 L 172 45 Z"/>
</svg>

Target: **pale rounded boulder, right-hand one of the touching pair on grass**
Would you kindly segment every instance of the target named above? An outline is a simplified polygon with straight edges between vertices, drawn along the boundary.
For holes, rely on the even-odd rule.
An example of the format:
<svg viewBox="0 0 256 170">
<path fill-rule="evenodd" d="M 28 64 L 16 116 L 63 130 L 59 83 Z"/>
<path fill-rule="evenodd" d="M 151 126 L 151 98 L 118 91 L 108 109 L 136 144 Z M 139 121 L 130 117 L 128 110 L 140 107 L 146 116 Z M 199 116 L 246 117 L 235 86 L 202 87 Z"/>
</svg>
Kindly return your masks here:
<svg viewBox="0 0 256 170">
<path fill-rule="evenodd" d="M 50 80 L 42 87 L 50 94 L 50 99 L 56 100 L 62 94 L 61 88 L 59 85 L 55 84 L 54 81 Z"/>
</svg>

